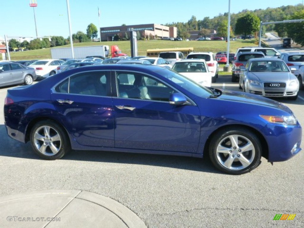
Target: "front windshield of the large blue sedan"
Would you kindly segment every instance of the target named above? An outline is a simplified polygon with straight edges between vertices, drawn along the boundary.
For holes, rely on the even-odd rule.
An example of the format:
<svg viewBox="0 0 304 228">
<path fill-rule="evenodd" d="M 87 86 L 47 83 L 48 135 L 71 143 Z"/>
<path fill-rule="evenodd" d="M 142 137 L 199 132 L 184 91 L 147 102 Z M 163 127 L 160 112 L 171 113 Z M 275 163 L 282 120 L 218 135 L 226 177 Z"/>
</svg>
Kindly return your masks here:
<svg viewBox="0 0 304 228">
<path fill-rule="evenodd" d="M 197 84 L 195 81 L 192 81 L 184 77 L 183 75 L 178 74 L 175 71 L 163 70 L 161 68 L 157 69 L 156 71 L 157 73 L 161 74 L 163 77 L 168 78 L 169 80 L 173 81 L 175 84 L 188 90 L 189 92 L 191 92 L 192 94 L 198 97 L 206 98 L 214 95 L 211 89 L 201 86 Z"/>
</svg>

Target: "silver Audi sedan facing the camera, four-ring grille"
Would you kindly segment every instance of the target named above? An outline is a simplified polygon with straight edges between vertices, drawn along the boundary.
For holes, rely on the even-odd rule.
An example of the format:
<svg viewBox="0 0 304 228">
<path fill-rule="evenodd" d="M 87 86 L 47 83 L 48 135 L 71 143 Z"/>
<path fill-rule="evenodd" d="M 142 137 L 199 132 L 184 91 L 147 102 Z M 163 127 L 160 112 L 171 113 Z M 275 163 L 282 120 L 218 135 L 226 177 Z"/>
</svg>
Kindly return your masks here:
<svg viewBox="0 0 304 228">
<path fill-rule="evenodd" d="M 240 89 L 265 97 L 298 97 L 299 81 L 283 60 L 254 58 L 241 68 Z"/>
</svg>

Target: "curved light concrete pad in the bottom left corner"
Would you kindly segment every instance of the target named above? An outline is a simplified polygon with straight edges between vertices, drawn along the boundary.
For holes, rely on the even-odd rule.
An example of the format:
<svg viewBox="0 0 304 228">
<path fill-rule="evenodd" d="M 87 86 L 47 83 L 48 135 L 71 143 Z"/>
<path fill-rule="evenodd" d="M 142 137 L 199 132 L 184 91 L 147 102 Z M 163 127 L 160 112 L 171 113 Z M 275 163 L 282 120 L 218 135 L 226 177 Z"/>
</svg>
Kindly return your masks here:
<svg viewBox="0 0 304 228">
<path fill-rule="evenodd" d="M 80 190 L 44 190 L 0 198 L 0 227 L 146 227 L 115 200 Z"/>
</svg>

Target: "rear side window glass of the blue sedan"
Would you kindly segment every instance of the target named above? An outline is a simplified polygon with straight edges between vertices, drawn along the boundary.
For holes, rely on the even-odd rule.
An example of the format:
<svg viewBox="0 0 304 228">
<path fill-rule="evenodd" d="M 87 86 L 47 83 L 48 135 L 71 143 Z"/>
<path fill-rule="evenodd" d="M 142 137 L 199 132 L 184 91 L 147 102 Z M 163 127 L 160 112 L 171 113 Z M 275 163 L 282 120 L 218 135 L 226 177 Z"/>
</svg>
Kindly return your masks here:
<svg viewBox="0 0 304 228">
<path fill-rule="evenodd" d="M 106 96 L 110 71 L 89 71 L 75 74 L 55 87 L 56 92 Z"/>
</svg>

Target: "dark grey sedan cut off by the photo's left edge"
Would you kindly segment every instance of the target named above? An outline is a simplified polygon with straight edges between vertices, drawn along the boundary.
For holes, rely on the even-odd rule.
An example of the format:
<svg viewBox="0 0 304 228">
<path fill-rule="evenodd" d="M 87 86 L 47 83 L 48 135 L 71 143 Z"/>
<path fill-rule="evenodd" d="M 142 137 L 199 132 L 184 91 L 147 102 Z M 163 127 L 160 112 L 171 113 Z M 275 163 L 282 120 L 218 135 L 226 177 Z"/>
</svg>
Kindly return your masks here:
<svg viewBox="0 0 304 228">
<path fill-rule="evenodd" d="M 0 62 L 0 87 L 8 85 L 31 85 L 37 79 L 33 68 L 13 62 Z"/>
</svg>

